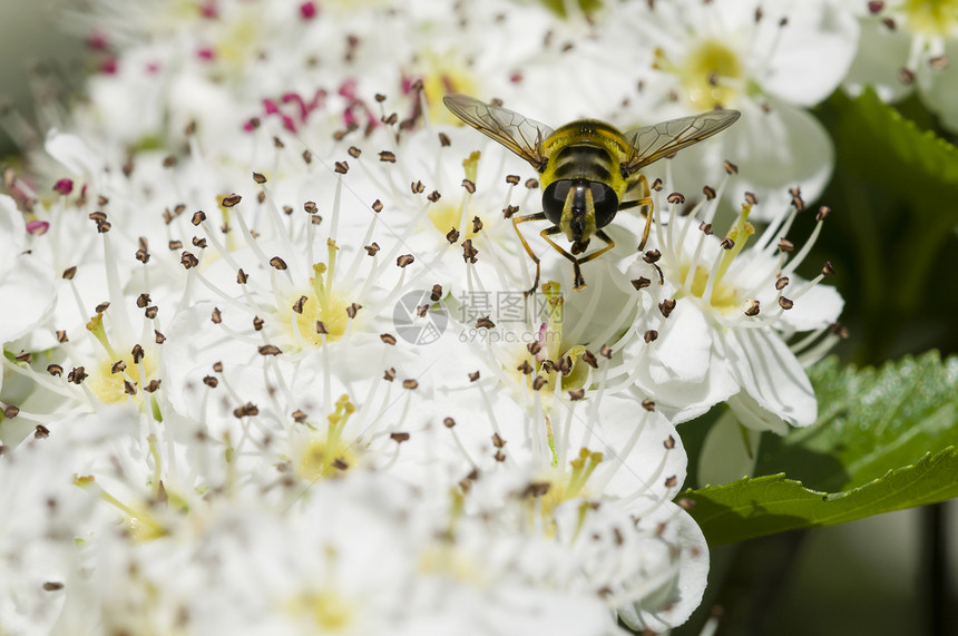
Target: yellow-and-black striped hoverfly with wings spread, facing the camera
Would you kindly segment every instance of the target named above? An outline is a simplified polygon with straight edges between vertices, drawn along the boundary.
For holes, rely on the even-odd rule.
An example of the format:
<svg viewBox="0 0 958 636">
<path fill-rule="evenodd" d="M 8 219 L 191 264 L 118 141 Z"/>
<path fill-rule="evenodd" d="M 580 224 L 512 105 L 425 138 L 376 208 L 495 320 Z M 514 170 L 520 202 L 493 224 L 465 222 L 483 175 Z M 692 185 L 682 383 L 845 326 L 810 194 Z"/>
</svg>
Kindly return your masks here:
<svg viewBox="0 0 958 636">
<path fill-rule="evenodd" d="M 648 211 L 638 249 L 645 247 L 653 200 L 648 180 L 638 170 L 727 128 L 741 115 L 737 110 L 712 110 L 627 133 L 604 121 L 579 119 L 553 130 L 508 108 L 465 95 L 450 94 L 442 100 L 462 121 L 502 144 L 539 173 L 542 212 L 512 217 L 522 247 L 536 263 L 536 281 L 527 296 L 539 286 L 539 257 L 519 232 L 520 223 L 551 223 L 539 235 L 573 262 L 573 286 L 580 290 L 586 286 L 581 264 L 615 247 L 603 227 L 613 222 L 618 211 L 639 206 Z M 550 238 L 559 233 L 571 243 L 571 253 Z M 579 256 L 593 235 L 606 246 Z"/>
</svg>

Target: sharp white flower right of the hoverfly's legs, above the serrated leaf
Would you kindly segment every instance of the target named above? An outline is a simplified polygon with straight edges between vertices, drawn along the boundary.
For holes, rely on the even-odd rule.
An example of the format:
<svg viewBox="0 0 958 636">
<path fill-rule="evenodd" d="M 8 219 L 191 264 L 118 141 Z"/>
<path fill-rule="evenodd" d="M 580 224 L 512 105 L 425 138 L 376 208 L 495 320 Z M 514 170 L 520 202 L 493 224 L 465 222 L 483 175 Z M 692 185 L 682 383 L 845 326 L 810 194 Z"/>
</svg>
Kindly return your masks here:
<svg viewBox="0 0 958 636">
<path fill-rule="evenodd" d="M 790 215 L 757 237 L 747 222 L 754 205 L 744 204 L 720 239 L 711 225 L 718 199 L 711 196 L 687 216 L 677 213 L 681 195 L 669 196 L 671 207 L 658 207 L 656 249 L 628 271 L 658 311 L 634 326 L 625 369 L 677 421 L 729 401 L 752 428 L 783 433 L 785 423 L 809 425 L 815 398 L 800 356 L 817 360 L 834 343 L 829 330 L 842 301 L 832 287 L 817 284 L 831 272 L 829 264 L 810 282 L 794 271 L 828 209 L 819 212 L 812 237 L 789 260 L 795 246 L 784 236 L 803 207 L 800 197 Z M 789 345 L 800 332 L 811 333 Z"/>
</svg>

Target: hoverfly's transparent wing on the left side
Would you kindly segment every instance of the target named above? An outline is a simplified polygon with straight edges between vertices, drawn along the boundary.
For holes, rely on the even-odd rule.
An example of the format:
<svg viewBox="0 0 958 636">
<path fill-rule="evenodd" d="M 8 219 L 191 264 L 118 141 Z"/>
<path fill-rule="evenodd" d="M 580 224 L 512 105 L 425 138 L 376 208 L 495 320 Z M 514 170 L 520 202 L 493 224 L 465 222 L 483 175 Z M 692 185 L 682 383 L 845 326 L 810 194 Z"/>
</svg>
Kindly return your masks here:
<svg viewBox="0 0 958 636">
<path fill-rule="evenodd" d="M 453 115 L 499 141 L 532 164 L 536 169 L 545 165 L 542 140 L 553 134 L 553 129 L 545 124 L 466 95 L 450 94 L 443 97 L 442 101 Z"/>
</svg>

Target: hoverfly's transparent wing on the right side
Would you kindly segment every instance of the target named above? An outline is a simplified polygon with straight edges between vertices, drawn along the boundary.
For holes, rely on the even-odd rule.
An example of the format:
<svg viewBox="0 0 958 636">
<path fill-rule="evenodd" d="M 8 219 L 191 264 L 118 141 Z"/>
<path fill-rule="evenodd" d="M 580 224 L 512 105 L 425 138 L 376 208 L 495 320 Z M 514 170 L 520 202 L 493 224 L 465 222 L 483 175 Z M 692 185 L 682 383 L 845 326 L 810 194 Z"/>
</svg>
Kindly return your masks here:
<svg viewBox="0 0 958 636">
<path fill-rule="evenodd" d="M 629 130 L 624 135 L 632 144 L 632 154 L 624 166 L 625 172 L 632 174 L 666 155 L 697 144 L 724 130 L 741 115 L 737 110 L 711 110 Z"/>
</svg>

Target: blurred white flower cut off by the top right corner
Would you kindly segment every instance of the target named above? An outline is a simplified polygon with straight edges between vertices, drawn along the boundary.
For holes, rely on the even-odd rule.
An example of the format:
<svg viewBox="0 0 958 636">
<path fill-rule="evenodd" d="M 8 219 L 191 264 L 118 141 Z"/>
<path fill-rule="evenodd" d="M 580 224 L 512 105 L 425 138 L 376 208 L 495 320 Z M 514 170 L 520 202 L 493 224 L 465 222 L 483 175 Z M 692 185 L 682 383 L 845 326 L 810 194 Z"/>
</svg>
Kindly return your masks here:
<svg viewBox="0 0 958 636">
<path fill-rule="evenodd" d="M 917 88 L 946 127 L 958 130 L 958 6 L 910 0 L 861 2 L 861 43 L 845 78 L 853 95 L 864 86 L 886 101 Z"/>
</svg>

